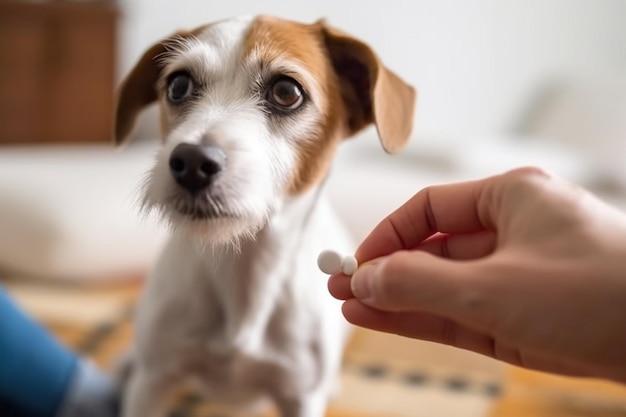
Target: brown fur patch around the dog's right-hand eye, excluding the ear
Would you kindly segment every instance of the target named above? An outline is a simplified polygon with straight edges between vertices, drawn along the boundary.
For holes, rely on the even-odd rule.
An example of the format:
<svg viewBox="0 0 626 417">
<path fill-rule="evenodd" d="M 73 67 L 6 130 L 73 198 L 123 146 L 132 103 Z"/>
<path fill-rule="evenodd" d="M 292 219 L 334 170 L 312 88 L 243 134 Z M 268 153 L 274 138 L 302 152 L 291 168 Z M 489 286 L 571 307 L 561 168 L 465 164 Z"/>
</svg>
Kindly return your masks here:
<svg viewBox="0 0 626 417">
<path fill-rule="evenodd" d="M 312 137 L 298 141 L 297 165 L 287 188 L 288 195 L 301 194 L 323 179 L 338 143 L 348 135 L 338 78 L 328 58 L 321 27 L 261 16 L 248 31 L 244 51 L 247 55 L 260 55 L 261 62 L 266 63 L 288 59 L 316 80 L 319 96 L 312 100 L 321 110 L 322 120 L 311 132 Z M 306 85 L 303 87 L 307 89 Z"/>
</svg>

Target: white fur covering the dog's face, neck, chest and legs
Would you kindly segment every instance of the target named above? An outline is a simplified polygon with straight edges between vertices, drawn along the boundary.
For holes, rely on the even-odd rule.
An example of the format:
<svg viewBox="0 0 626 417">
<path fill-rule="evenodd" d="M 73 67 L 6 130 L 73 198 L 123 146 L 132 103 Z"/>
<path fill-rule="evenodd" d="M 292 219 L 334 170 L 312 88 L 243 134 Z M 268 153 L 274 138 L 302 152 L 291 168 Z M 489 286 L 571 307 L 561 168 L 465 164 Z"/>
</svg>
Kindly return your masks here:
<svg viewBox="0 0 626 417">
<path fill-rule="evenodd" d="M 138 307 L 125 417 L 164 415 L 167 396 L 188 377 L 215 401 L 266 396 L 284 417 L 321 417 L 338 372 L 347 326 L 315 259 L 328 247 L 350 253 L 354 243 L 324 199 L 325 174 L 300 192 L 286 190 L 307 163 L 300 142 L 319 137 L 329 112 L 341 109 L 318 99 L 326 86 L 302 62 L 280 53 L 264 61 L 271 39 L 245 50 L 254 21 L 207 26 L 155 57 L 168 131 L 145 206 L 163 215 L 172 236 Z M 203 86 L 184 112 L 163 99 L 167 74 L 178 70 Z M 308 105 L 272 120 L 250 87 L 268 74 L 297 74 Z M 226 154 L 210 198 L 196 201 L 172 179 L 169 156 L 180 143 Z M 218 205 L 220 216 L 182 214 L 203 204 Z"/>
</svg>

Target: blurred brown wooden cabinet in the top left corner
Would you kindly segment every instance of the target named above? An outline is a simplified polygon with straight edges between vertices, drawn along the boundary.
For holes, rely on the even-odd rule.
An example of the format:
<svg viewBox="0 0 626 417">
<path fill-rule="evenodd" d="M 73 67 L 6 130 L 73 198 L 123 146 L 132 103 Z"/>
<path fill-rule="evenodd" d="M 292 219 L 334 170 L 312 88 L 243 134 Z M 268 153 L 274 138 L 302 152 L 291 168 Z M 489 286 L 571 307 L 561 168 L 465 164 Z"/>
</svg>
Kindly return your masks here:
<svg viewBox="0 0 626 417">
<path fill-rule="evenodd" d="M 0 0 L 0 143 L 108 142 L 117 11 Z"/>
</svg>

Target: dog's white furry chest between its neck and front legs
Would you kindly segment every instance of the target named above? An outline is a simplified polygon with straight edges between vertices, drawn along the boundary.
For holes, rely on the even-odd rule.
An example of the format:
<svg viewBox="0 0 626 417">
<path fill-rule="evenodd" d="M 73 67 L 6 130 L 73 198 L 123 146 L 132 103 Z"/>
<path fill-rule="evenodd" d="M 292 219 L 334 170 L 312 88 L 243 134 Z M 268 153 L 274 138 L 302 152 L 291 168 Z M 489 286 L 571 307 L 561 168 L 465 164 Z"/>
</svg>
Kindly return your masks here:
<svg viewBox="0 0 626 417">
<path fill-rule="evenodd" d="M 311 301 L 316 294 L 296 285 L 302 277 L 292 276 L 293 266 L 256 253 L 247 260 L 219 257 L 218 268 L 207 268 L 192 253 L 171 245 L 150 280 L 139 317 L 146 359 L 197 377 L 207 395 L 315 385 L 321 306 Z M 303 282 L 320 283 L 323 292 L 318 277 Z"/>
</svg>

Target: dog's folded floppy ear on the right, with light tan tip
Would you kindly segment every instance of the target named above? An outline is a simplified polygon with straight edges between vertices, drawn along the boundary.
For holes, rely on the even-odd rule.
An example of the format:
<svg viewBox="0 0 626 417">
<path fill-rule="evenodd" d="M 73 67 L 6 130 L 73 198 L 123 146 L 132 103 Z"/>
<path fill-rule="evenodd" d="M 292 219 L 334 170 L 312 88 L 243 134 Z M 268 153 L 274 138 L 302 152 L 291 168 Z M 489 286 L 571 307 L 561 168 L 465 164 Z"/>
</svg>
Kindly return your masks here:
<svg viewBox="0 0 626 417">
<path fill-rule="evenodd" d="M 385 151 L 400 151 L 409 140 L 417 93 L 391 72 L 365 43 L 318 22 L 341 84 L 350 133 L 376 125 Z"/>
</svg>

